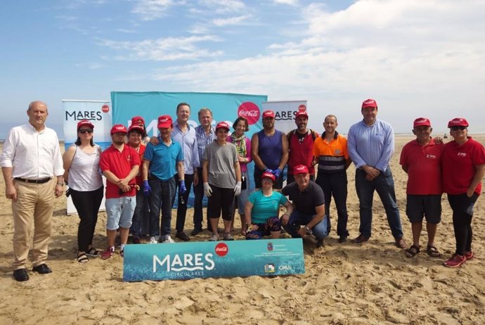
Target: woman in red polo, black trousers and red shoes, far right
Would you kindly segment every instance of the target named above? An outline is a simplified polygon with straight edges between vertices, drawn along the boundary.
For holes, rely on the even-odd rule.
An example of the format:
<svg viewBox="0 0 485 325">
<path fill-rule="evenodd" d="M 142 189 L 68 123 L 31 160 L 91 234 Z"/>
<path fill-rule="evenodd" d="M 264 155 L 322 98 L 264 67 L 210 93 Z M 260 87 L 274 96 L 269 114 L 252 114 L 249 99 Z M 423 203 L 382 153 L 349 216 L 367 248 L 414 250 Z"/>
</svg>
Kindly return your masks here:
<svg viewBox="0 0 485 325">
<path fill-rule="evenodd" d="M 442 162 L 443 191 L 453 210 L 455 254 L 444 262 L 446 267 L 460 267 L 473 258 L 473 208 L 481 193 L 481 178 L 485 172 L 484 146 L 468 136 L 468 122 L 454 118 L 448 122 L 453 141 L 446 144 Z"/>
</svg>

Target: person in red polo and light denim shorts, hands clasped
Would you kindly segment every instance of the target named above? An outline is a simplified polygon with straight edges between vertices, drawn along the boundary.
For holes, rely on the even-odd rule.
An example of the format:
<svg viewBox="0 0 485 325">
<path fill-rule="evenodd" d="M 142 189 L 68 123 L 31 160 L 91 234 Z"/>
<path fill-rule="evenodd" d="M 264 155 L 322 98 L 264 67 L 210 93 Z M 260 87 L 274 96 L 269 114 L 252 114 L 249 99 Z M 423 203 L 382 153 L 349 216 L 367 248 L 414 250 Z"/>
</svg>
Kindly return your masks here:
<svg viewBox="0 0 485 325">
<path fill-rule="evenodd" d="M 106 235 L 108 248 L 101 258 L 106 260 L 115 253 L 116 229 L 119 228 L 121 247 L 119 255 L 124 255 L 128 241 L 131 217 L 136 207 L 136 174 L 140 168 L 140 157 L 134 148 L 125 144 L 127 128 L 113 125 L 112 145 L 103 151 L 99 165 L 106 177 Z"/>
</svg>

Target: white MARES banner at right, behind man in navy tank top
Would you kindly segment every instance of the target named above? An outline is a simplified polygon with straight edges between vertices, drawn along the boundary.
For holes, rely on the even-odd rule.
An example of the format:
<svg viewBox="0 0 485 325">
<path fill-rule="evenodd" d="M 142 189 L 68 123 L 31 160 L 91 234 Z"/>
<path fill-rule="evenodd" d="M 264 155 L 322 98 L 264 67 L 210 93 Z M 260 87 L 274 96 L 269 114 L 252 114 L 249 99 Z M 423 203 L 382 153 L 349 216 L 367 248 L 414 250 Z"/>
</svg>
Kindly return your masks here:
<svg viewBox="0 0 485 325">
<path fill-rule="evenodd" d="M 275 113 L 275 128 L 288 133 L 296 129 L 295 115 L 299 110 L 306 111 L 306 101 L 264 101 L 261 103 L 263 112 L 273 110 Z"/>
</svg>

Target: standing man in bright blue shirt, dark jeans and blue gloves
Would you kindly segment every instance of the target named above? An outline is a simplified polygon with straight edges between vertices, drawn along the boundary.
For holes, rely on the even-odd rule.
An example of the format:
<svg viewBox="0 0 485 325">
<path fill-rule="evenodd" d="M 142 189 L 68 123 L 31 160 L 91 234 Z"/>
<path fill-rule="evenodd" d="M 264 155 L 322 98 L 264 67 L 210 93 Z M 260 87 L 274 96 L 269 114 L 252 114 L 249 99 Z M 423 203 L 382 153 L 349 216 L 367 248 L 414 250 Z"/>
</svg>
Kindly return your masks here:
<svg viewBox="0 0 485 325">
<path fill-rule="evenodd" d="M 174 243 L 170 236 L 172 207 L 175 200 L 176 180 L 183 180 L 183 151 L 179 143 L 172 141 L 172 117 L 158 117 L 159 143 L 148 143 L 143 155 L 143 193 L 150 196 L 150 243 Z M 150 181 L 148 181 L 150 172 Z M 183 186 L 185 188 L 185 185 Z M 183 193 L 182 193 L 183 194 Z M 162 230 L 160 231 L 160 206 L 162 207 Z"/>
</svg>

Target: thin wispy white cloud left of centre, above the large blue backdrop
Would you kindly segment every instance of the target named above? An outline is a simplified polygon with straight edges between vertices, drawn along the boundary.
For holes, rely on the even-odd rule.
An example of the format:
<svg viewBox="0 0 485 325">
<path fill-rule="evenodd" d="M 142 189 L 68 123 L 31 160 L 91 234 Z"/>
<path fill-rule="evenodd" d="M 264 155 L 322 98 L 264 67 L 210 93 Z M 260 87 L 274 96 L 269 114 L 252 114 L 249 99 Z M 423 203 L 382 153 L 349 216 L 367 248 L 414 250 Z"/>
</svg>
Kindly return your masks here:
<svg viewBox="0 0 485 325">
<path fill-rule="evenodd" d="M 211 35 L 203 35 L 145 39 L 140 42 L 120 42 L 101 39 L 99 44 L 126 53 L 115 56 L 116 60 L 195 60 L 199 58 L 215 58 L 222 55 L 221 51 L 200 49 L 196 46 L 200 42 L 219 42 L 219 38 Z"/>
</svg>

